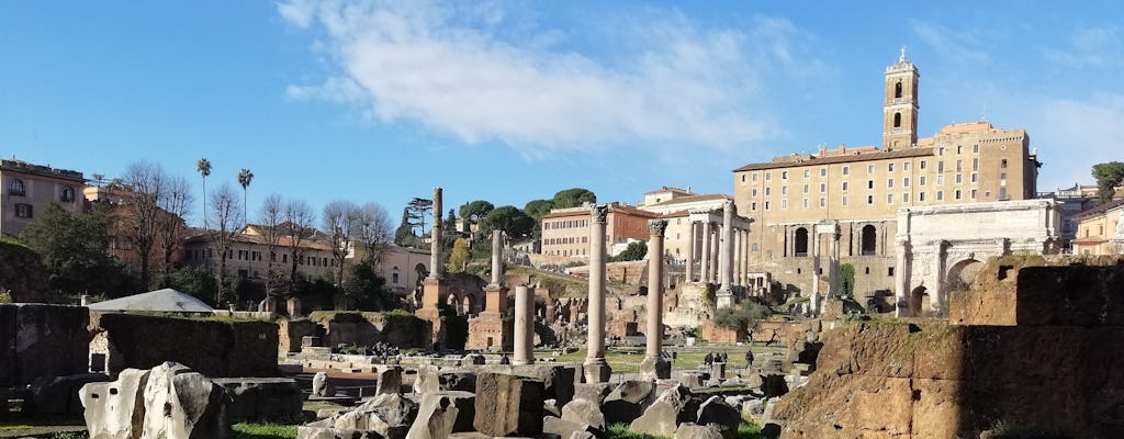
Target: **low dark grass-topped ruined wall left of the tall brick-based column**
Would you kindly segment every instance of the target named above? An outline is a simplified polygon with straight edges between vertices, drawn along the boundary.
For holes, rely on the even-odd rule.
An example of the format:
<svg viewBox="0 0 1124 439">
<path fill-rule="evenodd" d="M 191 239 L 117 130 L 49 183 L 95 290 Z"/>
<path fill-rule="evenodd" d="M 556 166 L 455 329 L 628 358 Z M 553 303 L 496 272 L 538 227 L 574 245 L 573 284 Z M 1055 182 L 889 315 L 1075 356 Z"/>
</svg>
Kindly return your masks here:
<svg viewBox="0 0 1124 439">
<path fill-rule="evenodd" d="M 314 312 L 310 320 L 326 330 L 325 346 L 371 346 L 386 342 L 399 348 L 425 348 L 429 322 L 405 313 Z"/>
</svg>

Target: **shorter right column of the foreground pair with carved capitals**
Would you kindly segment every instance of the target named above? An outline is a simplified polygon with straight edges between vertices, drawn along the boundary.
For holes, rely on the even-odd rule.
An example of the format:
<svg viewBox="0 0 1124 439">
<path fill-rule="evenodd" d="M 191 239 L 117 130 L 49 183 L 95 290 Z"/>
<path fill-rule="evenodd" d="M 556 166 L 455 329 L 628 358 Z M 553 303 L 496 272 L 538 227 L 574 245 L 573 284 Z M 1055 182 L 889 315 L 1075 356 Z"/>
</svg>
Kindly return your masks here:
<svg viewBox="0 0 1124 439">
<path fill-rule="evenodd" d="M 663 235 L 667 220 L 647 221 L 647 345 L 640 364 L 641 379 L 670 378 L 671 364 L 660 356 L 663 345 Z"/>
</svg>

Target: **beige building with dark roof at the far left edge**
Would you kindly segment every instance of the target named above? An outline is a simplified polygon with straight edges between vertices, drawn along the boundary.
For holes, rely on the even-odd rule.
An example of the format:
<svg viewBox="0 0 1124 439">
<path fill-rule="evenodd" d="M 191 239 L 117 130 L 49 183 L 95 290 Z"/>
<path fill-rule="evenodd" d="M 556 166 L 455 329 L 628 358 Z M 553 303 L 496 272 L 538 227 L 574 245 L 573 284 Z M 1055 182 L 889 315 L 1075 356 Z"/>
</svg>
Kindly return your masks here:
<svg viewBox="0 0 1124 439">
<path fill-rule="evenodd" d="M 16 236 L 52 203 L 79 213 L 85 208 L 85 179 L 78 171 L 21 161 L 0 161 L 0 236 Z"/>
</svg>

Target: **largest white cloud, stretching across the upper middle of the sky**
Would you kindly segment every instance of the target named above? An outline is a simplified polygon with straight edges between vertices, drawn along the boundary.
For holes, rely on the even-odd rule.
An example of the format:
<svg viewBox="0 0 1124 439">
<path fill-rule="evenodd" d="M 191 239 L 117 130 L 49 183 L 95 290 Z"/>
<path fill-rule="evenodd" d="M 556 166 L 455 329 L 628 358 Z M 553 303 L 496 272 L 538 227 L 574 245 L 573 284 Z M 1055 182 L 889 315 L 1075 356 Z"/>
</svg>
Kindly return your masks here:
<svg viewBox="0 0 1124 439">
<path fill-rule="evenodd" d="M 294 26 L 323 26 L 338 67 L 288 93 L 528 156 L 623 144 L 729 149 L 777 134 L 755 104 L 764 76 L 822 70 L 806 56 L 807 37 L 783 19 L 759 18 L 743 33 L 656 15 L 617 29 L 633 52 L 598 60 L 562 48 L 565 33 L 508 6 L 283 3 Z"/>
</svg>

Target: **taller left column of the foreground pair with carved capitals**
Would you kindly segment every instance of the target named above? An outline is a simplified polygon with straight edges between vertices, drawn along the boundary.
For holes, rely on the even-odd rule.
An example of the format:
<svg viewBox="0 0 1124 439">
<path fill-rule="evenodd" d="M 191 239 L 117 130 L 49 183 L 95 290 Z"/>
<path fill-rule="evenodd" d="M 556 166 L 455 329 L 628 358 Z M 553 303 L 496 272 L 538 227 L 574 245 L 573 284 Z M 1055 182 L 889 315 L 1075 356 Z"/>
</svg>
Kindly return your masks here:
<svg viewBox="0 0 1124 439">
<path fill-rule="evenodd" d="M 590 209 L 587 383 L 608 383 L 613 374 L 605 360 L 605 223 L 608 216 L 608 205 L 597 204 Z"/>
</svg>

